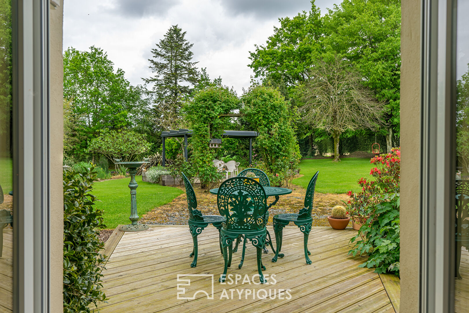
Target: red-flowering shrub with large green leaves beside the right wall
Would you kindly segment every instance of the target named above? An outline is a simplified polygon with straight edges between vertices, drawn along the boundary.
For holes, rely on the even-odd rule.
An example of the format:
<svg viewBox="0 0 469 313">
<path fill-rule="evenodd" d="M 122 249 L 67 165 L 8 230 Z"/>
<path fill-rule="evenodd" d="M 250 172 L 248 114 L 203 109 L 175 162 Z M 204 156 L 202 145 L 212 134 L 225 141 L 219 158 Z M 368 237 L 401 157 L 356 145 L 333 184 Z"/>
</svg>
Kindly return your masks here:
<svg viewBox="0 0 469 313">
<path fill-rule="evenodd" d="M 350 240 L 355 246 L 349 254 L 367 253 L 368 260 L 360 267 L 376 267 L 376 273 L 399 275 L 401 150 L 393 148 L 391 153 L 372 158 L 371 163 L 376 165 L 370 172 L 375 180 L 361 178 L 358 184 L 362 191 L 348 192 L 348 212 L 363 224 Z"/>
</svg>

